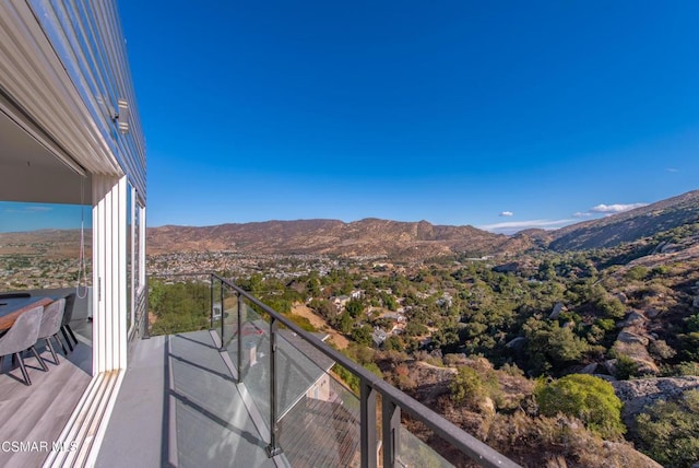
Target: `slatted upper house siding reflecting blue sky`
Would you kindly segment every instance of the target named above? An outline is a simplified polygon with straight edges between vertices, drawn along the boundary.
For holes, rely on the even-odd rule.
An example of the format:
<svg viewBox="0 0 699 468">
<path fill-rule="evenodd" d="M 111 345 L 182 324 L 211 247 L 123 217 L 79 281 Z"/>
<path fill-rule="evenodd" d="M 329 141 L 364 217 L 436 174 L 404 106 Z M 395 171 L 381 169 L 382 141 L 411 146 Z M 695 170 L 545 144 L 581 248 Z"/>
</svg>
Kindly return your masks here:
<svg viewBox="0 0 699 468">
<path fill-rule="evenodd" d="M 103 144 L 145 203 L 145 140 L 116 2 L 28 2 Z"/>
</svg>

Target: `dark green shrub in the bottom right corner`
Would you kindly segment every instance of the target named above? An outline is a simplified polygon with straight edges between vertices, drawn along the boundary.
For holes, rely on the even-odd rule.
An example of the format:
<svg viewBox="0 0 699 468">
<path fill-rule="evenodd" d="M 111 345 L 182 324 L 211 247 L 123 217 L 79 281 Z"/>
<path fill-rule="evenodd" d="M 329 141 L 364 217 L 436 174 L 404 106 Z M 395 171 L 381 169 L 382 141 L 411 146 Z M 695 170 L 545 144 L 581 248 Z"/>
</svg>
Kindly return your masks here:
<svg viewBox="0 0 699 468">
<path fill-rule="evenodd" d="M 699 390 L 677 401 L 660 400 L 636 418 L 641 451 L 664 466 L 690 467 L 699 460 Z"/>
</svg>

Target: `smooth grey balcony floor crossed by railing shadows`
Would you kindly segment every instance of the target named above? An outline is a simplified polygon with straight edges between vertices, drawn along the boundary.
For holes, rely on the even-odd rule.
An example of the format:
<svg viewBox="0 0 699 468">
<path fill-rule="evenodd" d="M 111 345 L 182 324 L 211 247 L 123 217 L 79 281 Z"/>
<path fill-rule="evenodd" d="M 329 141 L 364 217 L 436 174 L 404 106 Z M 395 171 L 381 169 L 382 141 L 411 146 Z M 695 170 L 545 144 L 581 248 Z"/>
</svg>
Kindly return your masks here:
<svg viewBox="0 0 699 468">
<path fill-rule="evenodd" d="M 284 466 L 268 457 L 226 358 L 209 331 L 139 341 L 96 466 Z"/>
</svg>

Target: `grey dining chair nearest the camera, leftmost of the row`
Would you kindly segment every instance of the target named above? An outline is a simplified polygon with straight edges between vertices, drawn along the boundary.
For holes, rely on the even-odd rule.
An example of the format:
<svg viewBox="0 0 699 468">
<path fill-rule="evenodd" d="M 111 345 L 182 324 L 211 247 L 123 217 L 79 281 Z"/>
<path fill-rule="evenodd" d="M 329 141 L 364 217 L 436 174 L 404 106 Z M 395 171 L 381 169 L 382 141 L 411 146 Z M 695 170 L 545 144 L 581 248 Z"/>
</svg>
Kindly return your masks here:
<svg viewBox="0 0 699 468">
<path fill-rule="evenodd" d="M 29 374 L 27 374 L 24 366 L 24 358 L 22 353 L 27 349 L 32 349 L 32 352 L 36 356 L 36 360 L 42 365 L 44 371 L 48 371 L 46 364 L 36 352 L 36 340 L 39 336 L 39 327 L 42 326 L 42 315 L 44 314 L 44 306 L 34 307 L 17 317 L 14 320 L 12 327 L 8 330 L 2 338 L 0 338 L 0 368 L 5 355 L 13 354 L 20 362 L 20 368 L 22 370 L 22 376 L 24 377 L 25 385 L 32 385 Z"/>
</svg>

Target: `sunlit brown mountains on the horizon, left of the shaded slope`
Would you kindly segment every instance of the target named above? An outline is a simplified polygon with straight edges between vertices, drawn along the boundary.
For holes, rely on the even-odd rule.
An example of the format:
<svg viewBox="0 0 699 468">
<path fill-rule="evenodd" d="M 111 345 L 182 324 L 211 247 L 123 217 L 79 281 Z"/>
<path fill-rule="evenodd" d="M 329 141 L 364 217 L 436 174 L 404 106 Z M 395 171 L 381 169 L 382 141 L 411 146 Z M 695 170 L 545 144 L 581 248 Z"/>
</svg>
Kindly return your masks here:
<svg viewBox="0 0 699 468">
<path fill-rule="evenodd" d="M 366 219 L 266 221 L 206 227 L 149 229 L 149 254 L 174 250 L 234 250 L 256 254 L 322 254 L 425 259 L 452 254 L 474 256 L 520 251 L 529 244 L 472 226 L 426 221 Z"/>
</svg>

